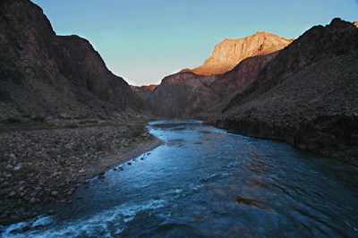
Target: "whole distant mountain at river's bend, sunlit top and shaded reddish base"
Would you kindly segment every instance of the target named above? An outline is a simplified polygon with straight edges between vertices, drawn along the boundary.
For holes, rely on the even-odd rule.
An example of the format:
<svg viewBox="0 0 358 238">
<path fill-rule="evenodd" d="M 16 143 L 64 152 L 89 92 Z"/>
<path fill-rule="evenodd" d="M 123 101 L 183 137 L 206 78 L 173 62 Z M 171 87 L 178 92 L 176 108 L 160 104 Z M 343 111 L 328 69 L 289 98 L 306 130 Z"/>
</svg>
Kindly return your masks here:
<svg viewBox="0 0 358 238">
<path fill-rule="evenodd" d="M 221 65 L 221 69 L 225 69 L 219 71 L 221 74 L 207 71 L 209 75 L 200 75 L 195 70 L 183 70 L 167 76 L 158 86 L 133 89 L 155 115 L 199 115 L 220 103 L 228 103 L 256 80 L 260 69 L 277 55 L 277 50 L 292 41 L 266 32 L 225 40 L 215 47 L 214 54 L 202 66 L 213 69 L 212 65 Z M 225 72 L 229 68 L 230 71 Z"/>
</svg>

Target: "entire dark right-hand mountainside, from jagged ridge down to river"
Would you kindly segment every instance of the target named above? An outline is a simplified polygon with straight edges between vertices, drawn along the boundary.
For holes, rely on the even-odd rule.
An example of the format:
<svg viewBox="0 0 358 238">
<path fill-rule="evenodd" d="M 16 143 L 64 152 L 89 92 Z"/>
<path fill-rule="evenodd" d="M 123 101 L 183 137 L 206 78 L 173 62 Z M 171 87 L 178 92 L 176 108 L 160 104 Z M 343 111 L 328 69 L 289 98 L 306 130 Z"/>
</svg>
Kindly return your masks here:
<svg viewBox="0 0 358 238">
<path fill-rule="evenodd" d="M 335 19 L 313 27 L 206 123 L 358 165 L 357 59 L 354 24 Z"/>
</svg>

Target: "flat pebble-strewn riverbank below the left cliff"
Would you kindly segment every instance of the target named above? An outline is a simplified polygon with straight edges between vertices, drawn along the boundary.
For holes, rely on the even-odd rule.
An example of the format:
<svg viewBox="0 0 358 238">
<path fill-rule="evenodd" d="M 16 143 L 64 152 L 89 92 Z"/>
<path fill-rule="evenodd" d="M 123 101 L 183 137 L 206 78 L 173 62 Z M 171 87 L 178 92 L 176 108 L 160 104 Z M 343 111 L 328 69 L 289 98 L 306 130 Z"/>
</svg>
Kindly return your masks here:
<svg viewBox="0 0 358 238">
<path fill-rule="evenodd" d="M 81 184 L 162 143 L 144 124 L 0 132 L 0 225 L 72 204 Z"/>
</svg>

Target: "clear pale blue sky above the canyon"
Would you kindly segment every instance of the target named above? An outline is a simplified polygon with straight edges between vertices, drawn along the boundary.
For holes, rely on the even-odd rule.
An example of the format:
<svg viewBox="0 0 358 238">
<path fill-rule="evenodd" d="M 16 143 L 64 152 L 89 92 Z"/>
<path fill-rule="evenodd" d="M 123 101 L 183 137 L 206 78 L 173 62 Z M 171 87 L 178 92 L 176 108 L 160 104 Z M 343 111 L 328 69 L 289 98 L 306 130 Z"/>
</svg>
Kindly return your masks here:
<svg viewBox="0 0 358 238">
<path fill-rule="evenodd" d="M 111 72 L 136 86 L 204 64 L 225 38 L 298 38 L 336 17 L 358 21 L 358 0 L 31 1 L 57 35 L 88 39 Z"/>
</svg>

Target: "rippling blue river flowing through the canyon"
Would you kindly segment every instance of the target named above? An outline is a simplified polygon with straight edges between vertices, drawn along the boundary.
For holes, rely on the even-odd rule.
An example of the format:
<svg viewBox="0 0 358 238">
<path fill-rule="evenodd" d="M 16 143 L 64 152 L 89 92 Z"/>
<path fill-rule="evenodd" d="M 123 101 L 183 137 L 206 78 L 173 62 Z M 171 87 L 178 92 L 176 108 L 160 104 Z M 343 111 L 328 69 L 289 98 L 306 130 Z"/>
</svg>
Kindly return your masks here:
<svg viewBox="0 0 358 238">
<path fill-rule="evenodd" d="M 358 237 L 358 167 L 199 121 L 149 130 L 165 145 L 3 237 Z"/>
</svg>

